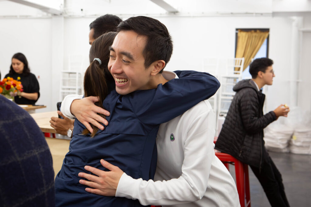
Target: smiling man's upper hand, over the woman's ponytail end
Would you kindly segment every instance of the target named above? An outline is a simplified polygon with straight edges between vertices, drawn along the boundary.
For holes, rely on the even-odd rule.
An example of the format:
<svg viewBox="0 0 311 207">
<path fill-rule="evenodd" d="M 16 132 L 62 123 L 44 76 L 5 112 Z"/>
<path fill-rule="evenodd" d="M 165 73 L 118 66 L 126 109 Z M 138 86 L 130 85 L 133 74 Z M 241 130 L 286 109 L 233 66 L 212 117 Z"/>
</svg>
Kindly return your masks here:
<svg viewBox="0 0 311 207">
<path fill-rule="evenodd" d="M 70 106 L 70 112 L 76 116 L 76 118 L 84 125 L 86 128 L 92 133 L 93 129 L 90 125 L 93 124 L 94 126 L 100 128 L 101 130 L 104 129 L 104 126 L 101 125 L 99 122 L 108 125 L 108 121 L 101 117 L 99 114 L 103 114 L 109 116 L 110 113 L 103 108 L 95 106 L 94 103 L 98 102 L 98 97 L 89 96 L 84 97 L 82 99 L 76 99 L 72 101 Z"/>
</svg>

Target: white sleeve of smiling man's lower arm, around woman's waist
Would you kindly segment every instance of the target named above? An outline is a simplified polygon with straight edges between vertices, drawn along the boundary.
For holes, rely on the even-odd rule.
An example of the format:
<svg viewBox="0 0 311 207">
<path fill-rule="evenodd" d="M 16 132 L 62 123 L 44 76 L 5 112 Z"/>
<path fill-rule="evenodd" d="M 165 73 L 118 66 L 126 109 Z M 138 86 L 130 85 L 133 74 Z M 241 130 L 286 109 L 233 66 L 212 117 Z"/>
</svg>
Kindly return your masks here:
<svg viewBox="0 0 311 207">
<path fill-rule="evenodd" d="M 123 173 L 116 196 L 138 199 L 142 205 L 176 205 L 200 200 L 207 189 L 211 163 L 215 159 L 212 109 L 198 115 L 187 126 L 188 133 L 182 138 L 184 160 L 179 178 L 154 182 L 133 179 Z"/>
</svg>

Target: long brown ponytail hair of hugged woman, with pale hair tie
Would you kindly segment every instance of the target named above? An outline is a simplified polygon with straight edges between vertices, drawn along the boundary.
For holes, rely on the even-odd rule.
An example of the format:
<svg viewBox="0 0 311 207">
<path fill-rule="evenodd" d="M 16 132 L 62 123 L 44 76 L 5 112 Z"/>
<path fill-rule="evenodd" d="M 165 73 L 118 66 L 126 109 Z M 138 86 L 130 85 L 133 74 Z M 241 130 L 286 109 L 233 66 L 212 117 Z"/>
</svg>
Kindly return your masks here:
<svg viewBox="0 0 311 207">
<path fill-rule="evenodd" d="M 98 96 L 99 100 L 95 103 L 96 106 L 101 108 L 103 107 L 103 101 L 108 95 L 108 86 L 107 86 L 107 78 L 106 76 L 110 75 L 108 70 L 108 62 L 109 62 L 109 47 L 112 45 L 116 32 L 108 32 L 101 35 L 97 38 L 90 49 L 90 66 L 86 69 L 84 75 L 84 96 Z M 101 61 L 101 65 L 99 61 L 94 60 L 94 58 L 99 58 Z M 105 118 L 104 115 L 98 114 Z M 93 128 L 93 132 L 91 133 L 91 137 L 94 137 L 98 132 L 98 128 L 91 124 Z M 82 134 L 87 135 L 90 131 L 86 128 L 83 130 Z"/>
</svg>

